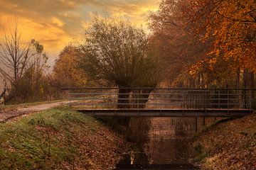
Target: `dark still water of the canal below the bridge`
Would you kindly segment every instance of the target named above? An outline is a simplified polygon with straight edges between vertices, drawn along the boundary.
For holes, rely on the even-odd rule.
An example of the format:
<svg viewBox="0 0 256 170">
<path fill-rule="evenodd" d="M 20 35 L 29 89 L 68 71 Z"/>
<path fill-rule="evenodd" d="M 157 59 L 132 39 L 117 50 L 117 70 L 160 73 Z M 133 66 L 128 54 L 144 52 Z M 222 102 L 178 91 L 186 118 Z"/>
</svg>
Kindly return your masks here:
<svg viewBox="0 0 256 170">
<path fill-rule="evenodd" d="M 197 122 L 202 128 L 202 119 Z M 195 123 L 195 118 L 151 118 L 147 140 L 125 154 L 117 169 L 198 169 L 191 146 Z"/>
</svg>

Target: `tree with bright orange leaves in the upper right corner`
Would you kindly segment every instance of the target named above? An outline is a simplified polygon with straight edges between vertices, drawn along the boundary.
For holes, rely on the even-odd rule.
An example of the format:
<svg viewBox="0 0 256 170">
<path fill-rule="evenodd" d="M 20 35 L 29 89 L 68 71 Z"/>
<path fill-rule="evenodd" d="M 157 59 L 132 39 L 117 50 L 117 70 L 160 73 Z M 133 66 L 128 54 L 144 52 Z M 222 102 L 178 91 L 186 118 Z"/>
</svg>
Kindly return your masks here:
<svg viewBox="0 0 256 170">
<path fill-rule="evenodd" d="M 240 70 L 244 75 L 256 71 L 256 4 L 255 1 L 183 1 L 183 16 L 191 30 L 203 33 L 202 41 L 213 39 L 208 53 L 209 63 L 218 58 L 232 62 L 237 69 L 239 87 Z M 246 76 L 244 76 L 246 77 Z M 253 86 L 252 86 L 253 87 Z"/>
</svg>

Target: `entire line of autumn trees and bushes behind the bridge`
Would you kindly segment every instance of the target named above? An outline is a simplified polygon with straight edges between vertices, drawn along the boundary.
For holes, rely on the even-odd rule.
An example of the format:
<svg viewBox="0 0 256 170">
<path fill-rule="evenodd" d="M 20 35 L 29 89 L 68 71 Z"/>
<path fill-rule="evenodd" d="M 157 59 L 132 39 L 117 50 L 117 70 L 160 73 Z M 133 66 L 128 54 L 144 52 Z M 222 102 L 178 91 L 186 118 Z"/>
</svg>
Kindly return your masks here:
<svg viewBox="0 0 256 170">
<path fill-rule="evenodd" d="M 63 86 L 254 88 L 255 8 L 250 0 L 162 0 L 149 13 L 149 35 L 127 20 L 95 17 L 50 74 L 43 45 L 21 45 L 16 28 L 1 38 L 0 73 L 17 102 L 61 98 Z"/>
</svg>

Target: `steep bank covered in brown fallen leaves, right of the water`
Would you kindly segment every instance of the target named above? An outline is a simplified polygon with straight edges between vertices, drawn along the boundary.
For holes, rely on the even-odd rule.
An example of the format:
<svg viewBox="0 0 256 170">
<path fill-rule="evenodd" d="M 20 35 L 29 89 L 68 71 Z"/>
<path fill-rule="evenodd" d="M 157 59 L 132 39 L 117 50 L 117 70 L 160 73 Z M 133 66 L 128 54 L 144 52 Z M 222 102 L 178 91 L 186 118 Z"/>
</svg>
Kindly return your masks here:
<svg viewBox="0 0 256 170">
<path fill-rule="evenodd" d="M 202 169 L 256 169 L 256 115 L 216 123 L 193 147 Z"/>
</svg>

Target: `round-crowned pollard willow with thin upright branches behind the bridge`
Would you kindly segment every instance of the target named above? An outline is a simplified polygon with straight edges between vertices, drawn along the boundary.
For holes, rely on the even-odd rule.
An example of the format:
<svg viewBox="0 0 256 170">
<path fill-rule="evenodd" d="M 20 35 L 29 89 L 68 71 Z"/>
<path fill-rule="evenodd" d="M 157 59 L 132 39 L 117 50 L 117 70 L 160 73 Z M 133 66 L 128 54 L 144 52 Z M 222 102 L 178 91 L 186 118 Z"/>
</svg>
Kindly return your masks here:
<svg viewBox="0 0 256 170">
<path fill-rule="evenodd" d="M 156 55 L 146 33 L 129 21 L 95 18 L 85 33 L 82 51 L 80 66 L 93 79 L 110 81 L 119 88 L 154 89 L 159 81 Z M 130 91 L 119 89 L 118 103 L 127 102 L 120 98 L 128 98 L 124 94 Z"/>
</svg>

